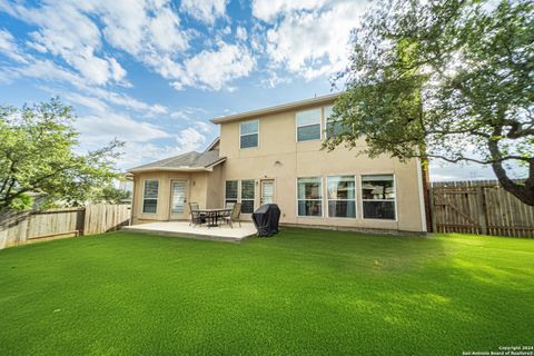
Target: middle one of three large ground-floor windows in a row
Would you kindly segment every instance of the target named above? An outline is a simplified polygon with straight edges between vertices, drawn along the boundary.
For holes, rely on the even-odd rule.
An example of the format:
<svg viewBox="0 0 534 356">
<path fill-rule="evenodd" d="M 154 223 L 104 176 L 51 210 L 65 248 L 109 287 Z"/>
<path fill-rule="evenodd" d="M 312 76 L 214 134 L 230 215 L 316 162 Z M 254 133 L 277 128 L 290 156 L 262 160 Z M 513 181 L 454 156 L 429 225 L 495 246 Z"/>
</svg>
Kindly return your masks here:
<svg viewBox="0 0 534 356">
<path fill-rule="evenodd" d="M 356 217 L 356 184 L 354 176 L 327 177 L 328 217 Z"/>
</svg>

